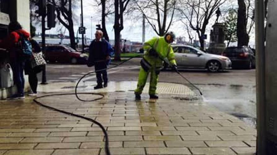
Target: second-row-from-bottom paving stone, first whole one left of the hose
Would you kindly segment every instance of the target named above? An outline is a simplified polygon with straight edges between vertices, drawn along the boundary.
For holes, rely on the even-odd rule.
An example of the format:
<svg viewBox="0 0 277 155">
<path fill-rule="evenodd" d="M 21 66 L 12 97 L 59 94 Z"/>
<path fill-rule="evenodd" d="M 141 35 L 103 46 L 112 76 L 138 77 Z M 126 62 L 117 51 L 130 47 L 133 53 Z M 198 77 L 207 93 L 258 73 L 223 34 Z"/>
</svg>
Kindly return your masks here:
<svg viewBox="0 0 277 155">
<path fill-rule="evenodd" d="M 35 149 L 64 149 L 64 148 L 78 148 L 80 142 L 71 142 L 71 143 L 39 143 Z"/>
</svg>

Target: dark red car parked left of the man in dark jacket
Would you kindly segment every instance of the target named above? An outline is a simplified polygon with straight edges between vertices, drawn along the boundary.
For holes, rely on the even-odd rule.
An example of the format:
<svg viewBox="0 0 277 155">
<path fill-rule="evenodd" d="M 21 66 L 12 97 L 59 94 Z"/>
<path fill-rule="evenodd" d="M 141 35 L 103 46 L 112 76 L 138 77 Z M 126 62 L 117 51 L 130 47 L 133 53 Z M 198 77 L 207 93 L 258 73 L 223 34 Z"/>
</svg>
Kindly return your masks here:
<svg viewBox="0 0 277 155">
<path fill-rule="evenodd" d="M 47 46 L 45 48 L 45 59 L 49 62 L 85 64 L 87 63 L 88 55 L 67 46 Z"/>
</svg>

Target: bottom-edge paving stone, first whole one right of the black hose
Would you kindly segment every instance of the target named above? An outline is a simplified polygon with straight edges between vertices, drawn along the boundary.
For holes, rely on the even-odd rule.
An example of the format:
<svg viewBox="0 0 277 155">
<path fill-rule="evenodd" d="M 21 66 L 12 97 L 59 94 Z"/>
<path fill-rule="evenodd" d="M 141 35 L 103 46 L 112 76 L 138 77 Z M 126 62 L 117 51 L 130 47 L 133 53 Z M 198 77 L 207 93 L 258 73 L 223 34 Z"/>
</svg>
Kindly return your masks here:
<svg viewBox="0 0 277 155">
<path fill-rule="evenodd" d="M 147 154 L 190 154 L 185 147 L 154 147 L 146 148 Z"/>
</svg>

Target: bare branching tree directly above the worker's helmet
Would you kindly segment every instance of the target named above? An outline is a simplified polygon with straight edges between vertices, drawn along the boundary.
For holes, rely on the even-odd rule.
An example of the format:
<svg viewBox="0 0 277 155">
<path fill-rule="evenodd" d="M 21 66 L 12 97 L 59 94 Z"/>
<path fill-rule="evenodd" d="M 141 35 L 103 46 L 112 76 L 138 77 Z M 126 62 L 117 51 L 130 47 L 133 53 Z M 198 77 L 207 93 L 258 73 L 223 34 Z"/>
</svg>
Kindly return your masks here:
<svg viewBox="0 0 277 155">
<path fill-rule="evenodd" d="M 165 35 L 172 24 L 177 1 L 135 0 L 135 3 L 155 33 L 159 36 Z"/>
</svg>

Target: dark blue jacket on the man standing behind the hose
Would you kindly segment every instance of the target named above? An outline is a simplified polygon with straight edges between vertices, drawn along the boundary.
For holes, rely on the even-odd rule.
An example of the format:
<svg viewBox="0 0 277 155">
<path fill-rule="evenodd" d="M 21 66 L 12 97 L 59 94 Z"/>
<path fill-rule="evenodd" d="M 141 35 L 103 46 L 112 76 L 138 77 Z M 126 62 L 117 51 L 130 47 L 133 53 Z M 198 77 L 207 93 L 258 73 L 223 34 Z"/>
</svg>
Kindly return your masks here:
<svg viewBox="0 0 277 155">
<path fill-rule="evenodd" d="M 112 55 L 113 49 L 109 42 L 105 39 L 101 39 L 101 41 L 95 41 L 94 39 L 89 45 L 88 63 L 94 64 L 97 61 L 106 61 L 106 57 Z"/>
</svg>

